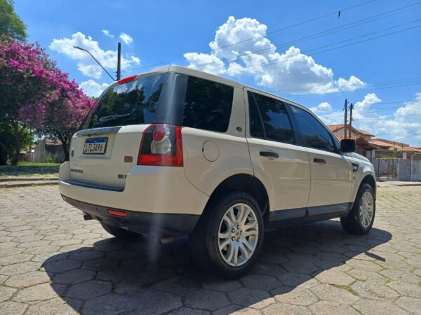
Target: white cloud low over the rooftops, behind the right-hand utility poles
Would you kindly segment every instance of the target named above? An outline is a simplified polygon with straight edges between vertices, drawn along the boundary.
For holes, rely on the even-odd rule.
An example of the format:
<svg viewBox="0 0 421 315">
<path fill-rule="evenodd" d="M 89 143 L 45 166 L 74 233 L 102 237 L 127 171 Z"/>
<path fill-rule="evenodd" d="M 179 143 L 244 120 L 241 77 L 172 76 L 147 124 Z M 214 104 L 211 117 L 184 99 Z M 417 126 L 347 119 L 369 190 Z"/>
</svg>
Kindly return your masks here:
<svg viewBox="0 0 421 315">
<path fill-rule="evenodd" d="M 415 94 L 415 100 L 404 102 L 394 112 L 376 109 L 375 104 L 382 102 L 375 93 L 368 93 L 354 104 L 352 126 L 366 130 L 377 138 L 401 141 L 418 146 L 421 141 L 421 93 Z M 323 103 L 322 103 L 323 104 Z M 321 105 L 321 104 L 320 104 Z M 319 106 L 320 106 L 319 105 Z M 326 125 L 342 124 L 344 112 L 323 113 L 319 106 L 314 111 Z"/>
</svg>

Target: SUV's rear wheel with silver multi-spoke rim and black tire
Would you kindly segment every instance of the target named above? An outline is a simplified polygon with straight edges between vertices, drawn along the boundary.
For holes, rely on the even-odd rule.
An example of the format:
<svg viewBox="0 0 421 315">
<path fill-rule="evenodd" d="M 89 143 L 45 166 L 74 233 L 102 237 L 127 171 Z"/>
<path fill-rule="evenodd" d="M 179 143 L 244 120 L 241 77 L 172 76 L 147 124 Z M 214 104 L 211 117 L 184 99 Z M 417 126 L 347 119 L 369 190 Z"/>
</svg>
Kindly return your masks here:
<svg viewBox="0 0 421 315">
<path fill-rule="evenodd" d="M 229 193 L 210 202 L 196 225 L 190 236 L 192 260 L 206 272 L 237 278 L 253 267 L 262 242 L 258 203 L 248 193 Z"/>
</svg>

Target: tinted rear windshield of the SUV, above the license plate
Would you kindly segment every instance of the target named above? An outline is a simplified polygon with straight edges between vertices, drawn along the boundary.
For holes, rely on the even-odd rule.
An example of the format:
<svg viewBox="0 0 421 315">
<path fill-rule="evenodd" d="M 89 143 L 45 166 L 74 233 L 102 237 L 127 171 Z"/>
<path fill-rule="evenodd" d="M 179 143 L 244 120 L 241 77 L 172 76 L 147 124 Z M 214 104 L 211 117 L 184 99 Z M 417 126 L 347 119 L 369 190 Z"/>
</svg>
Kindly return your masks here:
<svg viewBox="0 0 421 315">
<path fill-rule="evenodd" d="M 166 76 L 147 76 L 109 88 L 80 129 L 153 123 Z"/>
</svg>

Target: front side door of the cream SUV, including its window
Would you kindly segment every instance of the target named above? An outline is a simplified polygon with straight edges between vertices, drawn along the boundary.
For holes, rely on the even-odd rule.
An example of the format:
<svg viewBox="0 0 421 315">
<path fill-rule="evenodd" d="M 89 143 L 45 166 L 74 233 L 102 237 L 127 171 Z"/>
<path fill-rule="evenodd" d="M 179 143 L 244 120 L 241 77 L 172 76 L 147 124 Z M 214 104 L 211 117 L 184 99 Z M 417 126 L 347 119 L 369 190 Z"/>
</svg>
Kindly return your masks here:
<svg viewBox="0 0 421 315">
<path fill-rule="evenodd" d="M 293 105 L 290 109 L 309 153 L 312 170 L 309 216 L 341 211 L 350 198 L 352 165 L 345 155 L 338 153 L 332 134 L 312 113 Z"/>
</svg>

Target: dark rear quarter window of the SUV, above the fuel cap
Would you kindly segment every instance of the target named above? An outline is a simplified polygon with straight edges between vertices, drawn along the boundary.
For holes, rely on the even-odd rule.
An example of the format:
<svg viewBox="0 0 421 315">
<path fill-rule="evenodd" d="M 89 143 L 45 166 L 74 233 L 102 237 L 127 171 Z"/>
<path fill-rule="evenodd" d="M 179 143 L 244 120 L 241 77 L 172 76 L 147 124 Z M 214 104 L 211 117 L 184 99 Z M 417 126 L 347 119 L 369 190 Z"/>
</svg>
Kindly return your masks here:
<svg viewBox="0 0 421 315">
<path fill-rule="evenodd" d="M 232 86 L 189 76 L 182 125 L 226 132 L 233 97 Z"/>
</svg>

